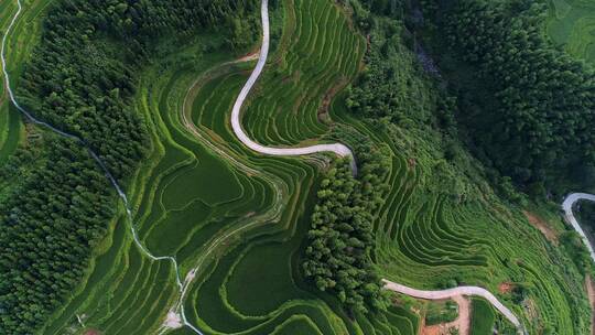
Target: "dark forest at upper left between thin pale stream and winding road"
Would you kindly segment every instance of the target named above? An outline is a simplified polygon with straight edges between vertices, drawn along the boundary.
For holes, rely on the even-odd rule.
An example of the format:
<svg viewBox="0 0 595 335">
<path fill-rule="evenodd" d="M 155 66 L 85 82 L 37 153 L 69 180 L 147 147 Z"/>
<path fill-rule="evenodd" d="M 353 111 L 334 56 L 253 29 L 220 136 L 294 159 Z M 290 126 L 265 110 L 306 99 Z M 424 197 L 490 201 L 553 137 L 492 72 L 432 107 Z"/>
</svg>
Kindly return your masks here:
<svg viewBox="0 0 595 335">
<path fill-rule="evenodd" d="M 44 21 L 19 99 L 35 116 L 85 139 L 111 173 L 122 177 L 147 147 L 130 98 L 136 73 L 155 44 L 163 36 L 214 26 L 231 45 L 246 47 L 258 35 L 252 32 L 255 18 L 239 18 L 256 7 L 253 0 L 60 1 Z"/>
</svg>

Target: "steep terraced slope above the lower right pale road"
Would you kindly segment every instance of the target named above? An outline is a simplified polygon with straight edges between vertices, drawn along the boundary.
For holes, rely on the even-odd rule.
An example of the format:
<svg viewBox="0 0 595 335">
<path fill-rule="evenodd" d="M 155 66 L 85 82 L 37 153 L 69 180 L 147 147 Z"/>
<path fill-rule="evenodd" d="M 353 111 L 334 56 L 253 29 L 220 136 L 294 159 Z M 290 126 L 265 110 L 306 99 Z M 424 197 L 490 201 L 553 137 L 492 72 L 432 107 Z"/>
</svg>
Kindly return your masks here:
<svg viewBox="0 0 595 335">
<path fill-rule="evenodd" d="M 444 288 L 455 280 L 495 293 L 499 283 L 519 283 L 530 292 L 530 306 L 511 303 L 510 294 L 497 295 L 524 318 L 521 323 L 531 334 L 545 326 L 556 334 L 588 329 L 581 275 L 561 266 L 560 251 L 522 214 L 470 184 L 465 194 L 452 194 L 451 190 L 459 188 L 450 184 L 454 181 L 450 174 L 456 172 L 444 162 L 436 166 L 440 156 L 423 151 L 432 148 L 426 134 L 402 129 L 392 136 L 379 133 L 335 107 L 334 118 L 391 144 L 393 187 L 376 227 L 376 261 L 387 279 L 418 289 Z"/>
</svg>

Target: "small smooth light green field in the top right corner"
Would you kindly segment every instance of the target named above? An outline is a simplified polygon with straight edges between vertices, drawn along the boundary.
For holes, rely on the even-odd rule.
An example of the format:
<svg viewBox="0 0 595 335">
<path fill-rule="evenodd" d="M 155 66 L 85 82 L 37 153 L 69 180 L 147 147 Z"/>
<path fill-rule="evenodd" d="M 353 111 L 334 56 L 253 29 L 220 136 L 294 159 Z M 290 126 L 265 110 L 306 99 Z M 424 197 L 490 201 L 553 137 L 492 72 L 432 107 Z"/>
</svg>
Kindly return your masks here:
<svg viewBox="0 0 595 335">
<path fill-rule="evenodd" d="M 595 3 L 589 0 L 551 0 L 548 33 L 570 54 L 595 62 Z"/>
</svg>

